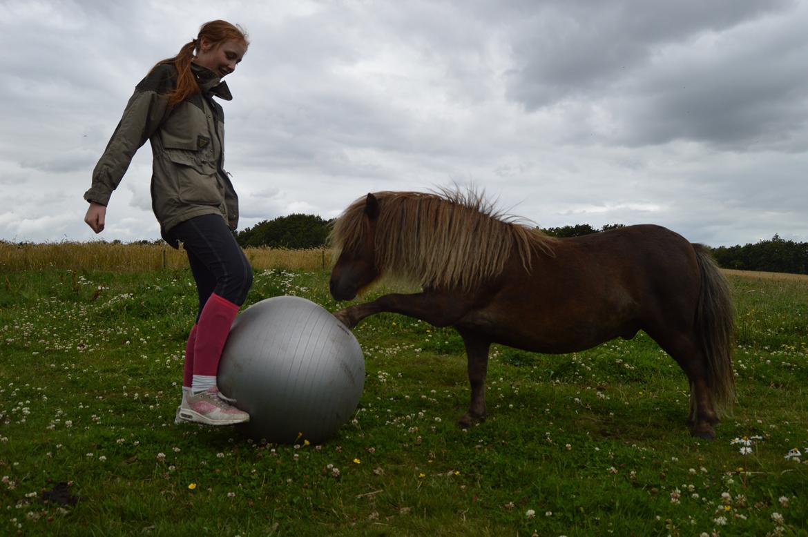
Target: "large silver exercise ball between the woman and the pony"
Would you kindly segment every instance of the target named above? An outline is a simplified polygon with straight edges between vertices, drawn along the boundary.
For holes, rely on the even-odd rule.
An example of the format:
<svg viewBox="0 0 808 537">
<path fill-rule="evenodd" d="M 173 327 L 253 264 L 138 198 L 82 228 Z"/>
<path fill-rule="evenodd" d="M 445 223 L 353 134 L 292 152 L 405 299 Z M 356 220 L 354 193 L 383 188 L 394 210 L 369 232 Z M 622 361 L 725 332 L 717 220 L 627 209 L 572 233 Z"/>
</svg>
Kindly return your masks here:
<svg viewBox="0 0 808 537">
<path fill-rule="evenodd" d="M 364 357 L 331 313 L 299 296 L 246 308 L 233 323 L 217 379 L 250 414 L 239 427 L 271 443 L 322 443 L 359 404 Z"/>
</svg>

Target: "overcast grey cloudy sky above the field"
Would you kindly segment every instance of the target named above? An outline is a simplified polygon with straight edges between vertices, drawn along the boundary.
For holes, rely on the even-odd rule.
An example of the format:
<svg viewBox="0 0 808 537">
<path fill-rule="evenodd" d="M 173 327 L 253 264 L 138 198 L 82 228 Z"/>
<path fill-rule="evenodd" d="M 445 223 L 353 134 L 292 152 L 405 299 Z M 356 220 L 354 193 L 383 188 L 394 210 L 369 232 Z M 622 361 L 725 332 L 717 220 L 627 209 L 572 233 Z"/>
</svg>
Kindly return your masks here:
<svg viewBox="0 0 808 537">
<path fill-rule="evenodd" d="M 808 241 L 806 3 L 0 0 L 0 240 L 158 238 L 149 144 L 99 236 L 82 195 L 137 82 L 227 19 L 241 229 L 457 184 L 541 227 Z"/>
</svg>

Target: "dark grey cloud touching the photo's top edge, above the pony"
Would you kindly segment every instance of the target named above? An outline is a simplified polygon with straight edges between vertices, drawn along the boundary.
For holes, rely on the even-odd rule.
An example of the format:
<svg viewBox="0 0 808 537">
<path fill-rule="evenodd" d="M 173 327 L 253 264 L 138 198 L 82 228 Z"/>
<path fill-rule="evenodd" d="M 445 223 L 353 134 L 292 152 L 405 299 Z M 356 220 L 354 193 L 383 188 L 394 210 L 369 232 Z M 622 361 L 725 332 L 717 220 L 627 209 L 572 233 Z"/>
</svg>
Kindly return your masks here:
<svg viewBox="0 0 808 537">
<path fill-rule="evenodd" d="M 510 94 L 528 109 L 602 94 L 671 44 L 781 10 L 790 2 L 548 2 L 524 6 L 512 43 Z"/>
</svg>

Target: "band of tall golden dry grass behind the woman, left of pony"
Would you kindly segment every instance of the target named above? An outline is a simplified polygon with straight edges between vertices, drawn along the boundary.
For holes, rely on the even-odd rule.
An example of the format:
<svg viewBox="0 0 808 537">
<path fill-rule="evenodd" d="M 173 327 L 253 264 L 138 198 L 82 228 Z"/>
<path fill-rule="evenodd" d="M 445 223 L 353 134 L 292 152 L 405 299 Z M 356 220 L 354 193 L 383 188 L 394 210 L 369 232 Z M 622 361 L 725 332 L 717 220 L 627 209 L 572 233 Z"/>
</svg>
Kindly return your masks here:
<svg viewBox="0 0 808 537">
<path fill-rule="evenodd" d="M 318 270 L 330 266 L 327 249 L 283 250 L 246 248 L 257 269 Z M 165 244 L 111 242 L 53 242 L 44 244 L 0 241 L 0 271 L 37 271 L 48 268 L 76 271 L 157 271 L 187 266 L 185 252 Z"/>
</svg>

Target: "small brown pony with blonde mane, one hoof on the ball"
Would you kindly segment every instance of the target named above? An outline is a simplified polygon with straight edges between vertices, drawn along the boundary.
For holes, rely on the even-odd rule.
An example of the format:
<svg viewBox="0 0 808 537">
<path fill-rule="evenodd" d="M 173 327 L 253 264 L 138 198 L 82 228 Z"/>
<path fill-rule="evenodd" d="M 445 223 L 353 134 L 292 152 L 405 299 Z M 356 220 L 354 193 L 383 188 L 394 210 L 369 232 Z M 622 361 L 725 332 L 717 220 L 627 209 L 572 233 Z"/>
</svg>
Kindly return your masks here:
<svg viewBox="0 0 808 537">
<path fill-rule="evenodd" d="M 734 401 L 726 279 L 703 246 L 668 229 L 556 239 L 503 217 L 473 191 L 378 192 L 352 203 L 330 238 L 336 300 L 385 274 L 423 288 L 335 313 L 349 328 L 393 312 L 457 329 L 471 384 L 461 426 L 486 418 L 491 343 L 558 354 L 641 329 L 688 375 L 692 434 L 714 438 L 718 413 Z"/>
</svg>

